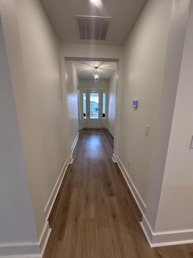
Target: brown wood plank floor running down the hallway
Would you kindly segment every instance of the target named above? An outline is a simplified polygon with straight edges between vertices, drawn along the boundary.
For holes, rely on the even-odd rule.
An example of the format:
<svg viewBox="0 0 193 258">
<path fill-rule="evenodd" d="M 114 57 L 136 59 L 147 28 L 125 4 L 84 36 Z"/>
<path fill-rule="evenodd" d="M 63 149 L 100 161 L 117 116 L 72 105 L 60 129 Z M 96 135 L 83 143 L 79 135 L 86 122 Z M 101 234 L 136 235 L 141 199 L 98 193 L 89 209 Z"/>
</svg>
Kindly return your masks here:
<svg viewBox="0 0 193 258">
<path fill-rule="evenodd" d="M 43 258 L 193 257 L 193 244 L 150 248 L 107 129 L 84 129 L 49 216 Z"/>
</svg>

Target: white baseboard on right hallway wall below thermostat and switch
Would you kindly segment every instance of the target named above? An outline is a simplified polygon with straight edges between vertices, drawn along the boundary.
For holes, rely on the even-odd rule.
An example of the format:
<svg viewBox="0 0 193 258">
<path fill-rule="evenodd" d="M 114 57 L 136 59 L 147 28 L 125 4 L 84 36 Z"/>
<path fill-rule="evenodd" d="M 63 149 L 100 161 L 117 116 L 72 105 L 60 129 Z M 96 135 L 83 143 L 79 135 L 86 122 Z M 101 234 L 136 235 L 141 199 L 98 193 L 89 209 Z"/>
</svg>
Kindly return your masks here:
<svg viewBox="0 0 193 258">
<path fill-rule="evenodd" d="M 114 157 L 112 157 L 112 160 L 113 161 L 115 160 L 114 162 L 117 162 L 117 164 L 118 164 L 118 166 L 119 166 L 119 168 L 120 168 L 120 170 L 121 170 L 121 172 L 122 172 L 122 174 L 123 174 L 123 176 L 125 178 L 125 181 L 127 182 L 127 185 L 129 187 L 129 189 L 130 189 L 130 191 L 131 191 L 131 193 L 132 193 L 132 195 L 133 195 L 133 197 L 134 197 L 134 199 L 135 199 L 135 201 L 136 201 L 136 203 L 137 203 L 137 205 L 138 205 L 142 215 L 144 215 L 145 214 L 146 205 L 144 204 L 141 196 L 139 195 L 137 189 L 135 188 L 133 182 L 131 181 L 131 178 L 127 174 L 127 171 L 125 170 L 125 168 L 124 168 L 123 164 L 121 163 L 119 157 L 115 157 L 115 155 L 114 155 Z"/>
</svg>

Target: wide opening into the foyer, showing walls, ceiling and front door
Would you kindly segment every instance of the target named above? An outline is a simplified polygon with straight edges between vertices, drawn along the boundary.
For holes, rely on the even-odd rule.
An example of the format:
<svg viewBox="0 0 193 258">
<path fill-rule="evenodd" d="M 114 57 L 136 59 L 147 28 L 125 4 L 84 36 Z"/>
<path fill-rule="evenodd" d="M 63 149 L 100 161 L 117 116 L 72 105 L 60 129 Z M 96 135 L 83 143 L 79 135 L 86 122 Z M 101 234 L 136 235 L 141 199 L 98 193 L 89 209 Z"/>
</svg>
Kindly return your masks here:
<svg viewBox="0 0 193 258">
<path fill-rule="evenodd" d="M 100 75 L 97 82 L 94 80 L 95 67 Z M 119 59 L 65 57 L 71 149 L 80 130 L 87 128 L 108 129 L 115 136 L 115 148 L 118 146 L 115 132 L 119 132 L 120 117 L 117 108 L 119 70 Z"/>
</svg>

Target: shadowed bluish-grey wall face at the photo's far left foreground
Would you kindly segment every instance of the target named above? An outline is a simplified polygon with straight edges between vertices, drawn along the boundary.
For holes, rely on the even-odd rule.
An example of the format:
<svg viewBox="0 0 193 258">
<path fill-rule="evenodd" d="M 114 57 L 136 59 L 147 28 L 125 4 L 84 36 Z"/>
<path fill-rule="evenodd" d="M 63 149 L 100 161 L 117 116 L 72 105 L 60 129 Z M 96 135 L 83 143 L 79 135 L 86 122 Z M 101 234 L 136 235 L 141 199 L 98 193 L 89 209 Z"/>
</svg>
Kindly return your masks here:
<svg viewBox="0 0 193 258">
<path fill-rule="evenodd" d="M 4 255 L 4 244 L 38 239 L 1 19 L 0 46 L 0 255 Z"/>
</svg>

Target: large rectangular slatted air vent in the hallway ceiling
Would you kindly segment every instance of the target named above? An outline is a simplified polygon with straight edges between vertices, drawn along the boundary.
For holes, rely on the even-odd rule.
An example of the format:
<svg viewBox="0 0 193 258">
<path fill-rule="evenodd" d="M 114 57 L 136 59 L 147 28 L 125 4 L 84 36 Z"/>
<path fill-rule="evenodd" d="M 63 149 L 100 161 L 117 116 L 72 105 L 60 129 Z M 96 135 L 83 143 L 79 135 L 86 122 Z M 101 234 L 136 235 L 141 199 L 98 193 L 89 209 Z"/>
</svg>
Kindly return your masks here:
<svg viewBox="0 0 193 258">
<path fill-rule="evenodd" d="M 112 17 L 94 17 L 75 15 L 80 39 L 106 40 Z"/>
</svg>

